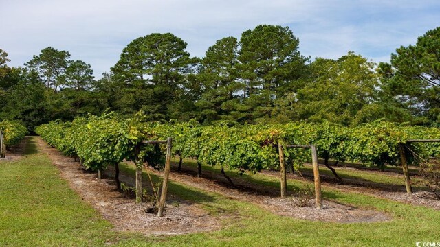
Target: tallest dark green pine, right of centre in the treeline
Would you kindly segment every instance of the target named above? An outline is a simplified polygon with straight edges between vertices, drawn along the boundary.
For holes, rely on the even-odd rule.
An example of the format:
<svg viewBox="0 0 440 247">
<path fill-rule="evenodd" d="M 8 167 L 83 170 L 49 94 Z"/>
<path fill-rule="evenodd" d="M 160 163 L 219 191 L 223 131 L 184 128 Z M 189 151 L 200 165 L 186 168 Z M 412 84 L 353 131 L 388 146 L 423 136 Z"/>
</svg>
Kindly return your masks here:
<svg viewBox="0 0 440 247">
<path fill-rule="evenodd" d="M 243 84 L 243 110 L 253 121 L 272 117 L 274 99 L 298 89 L 307 58 L 298 51 L 299 39 L 289 27 L 258 25 L 241 34 L 239 71 Z"/>
</svg>

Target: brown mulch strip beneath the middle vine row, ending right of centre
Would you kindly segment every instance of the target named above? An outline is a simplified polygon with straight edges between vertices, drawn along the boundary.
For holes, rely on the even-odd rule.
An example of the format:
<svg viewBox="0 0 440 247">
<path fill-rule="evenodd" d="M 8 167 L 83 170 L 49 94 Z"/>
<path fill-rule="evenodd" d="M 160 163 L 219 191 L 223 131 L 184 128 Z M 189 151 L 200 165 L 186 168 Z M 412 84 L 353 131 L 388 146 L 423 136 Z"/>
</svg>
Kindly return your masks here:
<svg viewBox="0 0 440 247">
<path fill-rule="evenodd" d="M 155 174 L 160 174 L 160 172 L 149 167 L 146 169 Z M 197 178 L 197 172 L 192 167 L 182 167 L 181 172 L 176 172 L 173 169 L 170 173 L 170 179 L 205 191 L 219 193 L 234 200 L 251 202 L 277 215 L 303 220 L 341 223 L 385 222 L 391 220 L 389 215 L 379 211 L 360 209 L 329 200 L 324 200 L 322 209 L 316 208 L 314 198 L 309 201 L 306 207 L 298 207 L 292 198 L 280 198 L 279 191 L 276 189 L 255 185 L 236 178 L 233 179 L 234 186 L 232 186 L 221 174 L 208 171 L 202 171 L 201 178 Z"/>
</svg>

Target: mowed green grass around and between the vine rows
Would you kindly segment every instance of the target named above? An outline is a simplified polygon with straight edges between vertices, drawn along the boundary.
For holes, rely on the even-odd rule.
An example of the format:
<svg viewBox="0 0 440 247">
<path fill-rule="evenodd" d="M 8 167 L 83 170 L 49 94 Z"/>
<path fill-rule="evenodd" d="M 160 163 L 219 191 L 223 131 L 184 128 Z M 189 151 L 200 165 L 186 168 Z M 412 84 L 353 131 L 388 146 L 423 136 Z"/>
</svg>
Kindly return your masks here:
<svg viewBox="0 0 440 247">
<path fill-rule="evenodd" d="M 36 152 L 33 141 L 26 158 L 0 161 L 0 246 L 414 246 L 417 241 L 439 241 L 440 212 L 426 207 L 325 189 L 326 198 L 384 211 L 393 220 L 311 222 L 173 181 L 170 194 L 201 204 L 214 215 L 231 216 L 219 220 L 221 230 L 177 236 L 121 233 L 69 189 L 47 156 Z M 121 169 L 134 174 L 131 165 L 122 164 Z M 252 180 L 277 186 L 276 179 L 267 176 Z M 289 181 L 289 189 L 300 186 Z"/>
</svg>

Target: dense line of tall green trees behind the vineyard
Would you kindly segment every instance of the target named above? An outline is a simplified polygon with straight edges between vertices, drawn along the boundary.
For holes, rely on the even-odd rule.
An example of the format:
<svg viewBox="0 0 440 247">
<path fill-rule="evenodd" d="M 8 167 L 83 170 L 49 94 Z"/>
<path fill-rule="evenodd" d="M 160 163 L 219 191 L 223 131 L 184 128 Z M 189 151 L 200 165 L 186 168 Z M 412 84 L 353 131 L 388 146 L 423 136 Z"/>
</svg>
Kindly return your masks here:
<svg viewBox="0 0 440 247">
<path fill-rule="evenodd" d="M 440 123 L 440 27 L 399 47 L 390 63 L 348 52 L 338 59 L 300 54 L 289 27 L 259 25 L 226 37 L 203 58 L 173 34 L 149 34 L 127 45 L 95 80 L 91 66 L 47 47 L 23 67 L 0 50 L 0 120 L 30 130 L 53 119 L 104 110 L 148 121 L 274 124 L 307 120 L 358 126 L 377 119 Z"/>
</svg>

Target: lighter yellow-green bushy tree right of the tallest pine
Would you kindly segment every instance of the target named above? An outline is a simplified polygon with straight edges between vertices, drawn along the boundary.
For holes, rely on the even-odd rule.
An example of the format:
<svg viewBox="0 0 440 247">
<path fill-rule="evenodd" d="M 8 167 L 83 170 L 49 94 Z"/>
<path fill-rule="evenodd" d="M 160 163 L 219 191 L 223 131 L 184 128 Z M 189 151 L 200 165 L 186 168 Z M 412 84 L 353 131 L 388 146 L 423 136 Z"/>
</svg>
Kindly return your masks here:
<svg viewBox="0 0 440 247">
<path fill-rule="evenodd" d="M 377 119 L 374 69 L 373 62 L 353 52 L 338 60 L 317 58 L 307 84 L 296 95 L 296 119 L 327 119 L 346 126 Z"/>
</svg>

